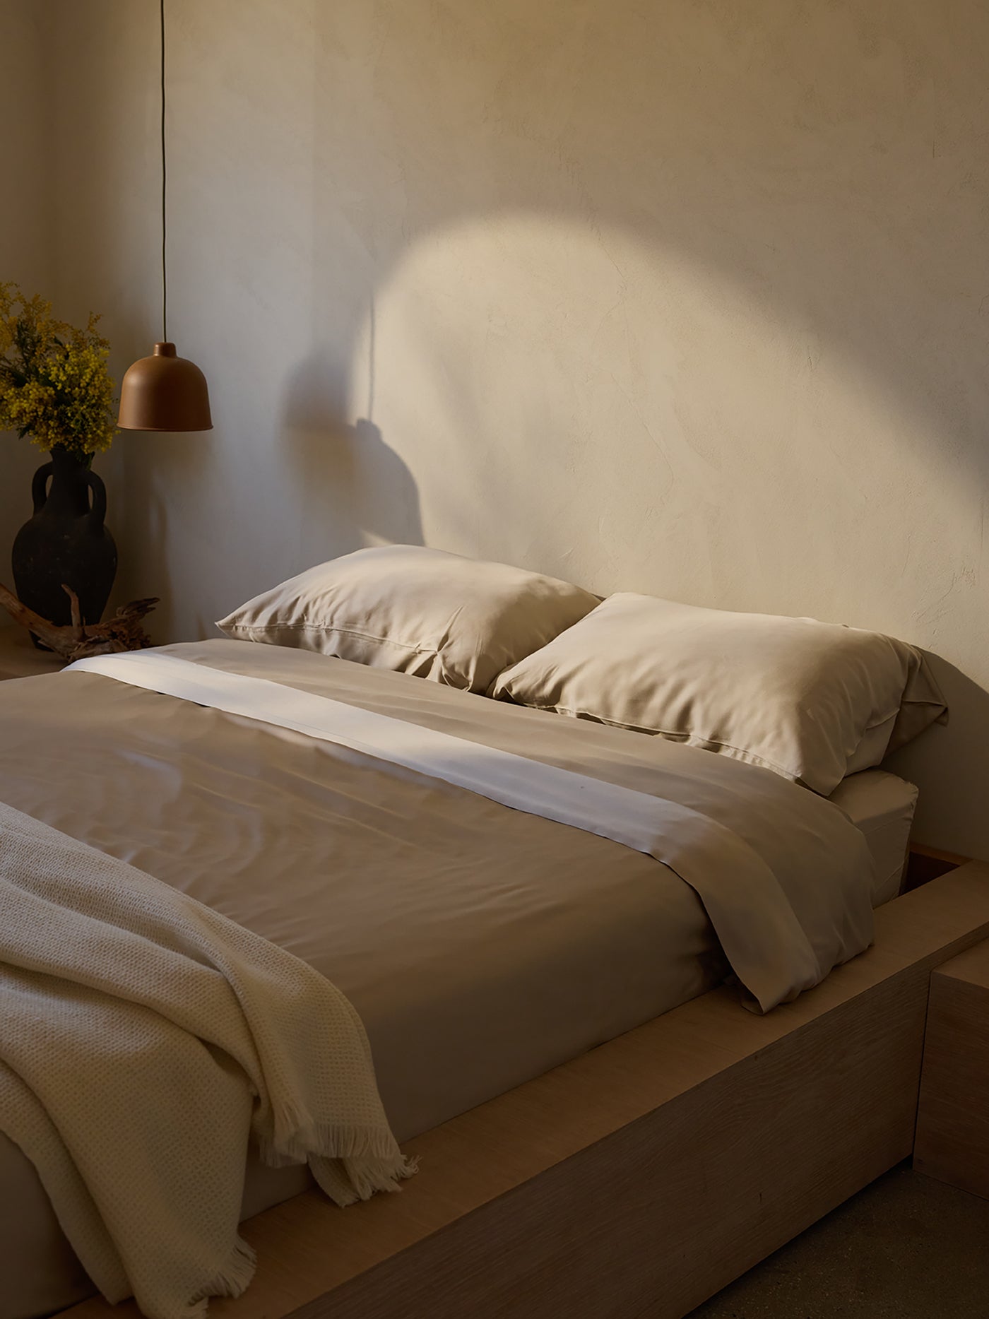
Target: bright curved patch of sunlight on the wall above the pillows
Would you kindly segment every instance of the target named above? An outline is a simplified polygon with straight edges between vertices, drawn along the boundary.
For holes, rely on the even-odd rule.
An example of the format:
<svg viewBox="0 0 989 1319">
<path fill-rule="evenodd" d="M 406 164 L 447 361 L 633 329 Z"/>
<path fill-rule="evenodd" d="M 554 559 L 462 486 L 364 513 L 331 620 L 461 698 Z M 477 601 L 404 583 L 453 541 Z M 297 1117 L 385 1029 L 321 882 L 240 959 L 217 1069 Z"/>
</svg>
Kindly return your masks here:
<svg viewBox="0 0 989 1319">
<path fill-rule="evenodd" d="M 351 405 L 415 477 L 427 543 L 918 640 L 911 565 L 945 599 L 973 586 L 980 500 L 928 419 L 723 270 L 497 214 L 414 243 L 373 307 Z"/>
</svg>

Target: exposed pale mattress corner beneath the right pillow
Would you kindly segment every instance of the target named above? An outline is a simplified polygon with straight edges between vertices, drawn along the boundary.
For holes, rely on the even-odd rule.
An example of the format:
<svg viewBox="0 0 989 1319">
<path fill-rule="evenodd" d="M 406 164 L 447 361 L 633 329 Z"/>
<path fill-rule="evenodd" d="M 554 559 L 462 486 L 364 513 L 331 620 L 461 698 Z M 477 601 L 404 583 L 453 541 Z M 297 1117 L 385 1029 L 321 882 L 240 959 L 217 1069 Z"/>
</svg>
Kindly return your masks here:
<svg viewBox="0 0 989 1319">
<path fill-rule="evenodd" d="M 872 905 L 897 897 L 903 882 L 916 787 L 882 769 L 849 774 L 831 794 L 858 828 L 873 859 Z"/>
</svg>

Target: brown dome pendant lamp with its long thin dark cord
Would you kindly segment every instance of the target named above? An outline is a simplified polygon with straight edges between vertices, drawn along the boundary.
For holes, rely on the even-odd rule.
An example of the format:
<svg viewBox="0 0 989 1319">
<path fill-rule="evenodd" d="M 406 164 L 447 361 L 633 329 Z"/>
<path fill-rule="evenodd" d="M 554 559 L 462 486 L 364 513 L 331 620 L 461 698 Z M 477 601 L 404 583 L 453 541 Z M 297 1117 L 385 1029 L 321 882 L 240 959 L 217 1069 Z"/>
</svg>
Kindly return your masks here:
<svg viewBox="0 0 989 1319">
<path fill-rule="evenodd" d="M 165 0 L 161 9 L 161 343 L 141 357 L 120 385 L 121 430 L 212 430 L 206 376 L 179 357 L 169 342 L 169 285 L 165 268 Z"/>
</svg>

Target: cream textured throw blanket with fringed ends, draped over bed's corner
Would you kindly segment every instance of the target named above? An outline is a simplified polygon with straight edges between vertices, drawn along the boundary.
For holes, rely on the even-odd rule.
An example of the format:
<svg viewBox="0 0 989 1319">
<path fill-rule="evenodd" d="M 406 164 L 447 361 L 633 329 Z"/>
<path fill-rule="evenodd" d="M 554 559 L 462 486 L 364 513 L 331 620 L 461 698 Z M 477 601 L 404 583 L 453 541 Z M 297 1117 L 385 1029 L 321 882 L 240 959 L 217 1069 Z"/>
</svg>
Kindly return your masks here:
<svg viewBox="0 0 989 1319">
<path fill-rule="evenodd" d="M 0 1129 L 92 1281 L 150 1319 L 237 1295 L 248 1138 L 338 1204 L 402 1158 L 364 1028 L 306 963 L 0 805 Z"/>
</svg>

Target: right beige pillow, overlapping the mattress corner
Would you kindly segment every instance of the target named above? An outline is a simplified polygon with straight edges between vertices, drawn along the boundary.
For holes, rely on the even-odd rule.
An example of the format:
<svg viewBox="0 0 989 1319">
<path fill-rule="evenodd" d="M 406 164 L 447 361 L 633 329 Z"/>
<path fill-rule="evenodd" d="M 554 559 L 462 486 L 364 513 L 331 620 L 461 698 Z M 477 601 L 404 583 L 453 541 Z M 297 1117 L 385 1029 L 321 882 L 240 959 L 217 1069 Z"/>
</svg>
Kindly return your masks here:
<svg viewBox="0 0 989 1319">
<path fill-rule="evenodd" d="M 914 646 L 814 619 L 613 595 L 491 695 L 659 733 L 827 795 L 947 706 Z"/>
</svg>

